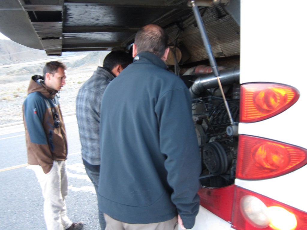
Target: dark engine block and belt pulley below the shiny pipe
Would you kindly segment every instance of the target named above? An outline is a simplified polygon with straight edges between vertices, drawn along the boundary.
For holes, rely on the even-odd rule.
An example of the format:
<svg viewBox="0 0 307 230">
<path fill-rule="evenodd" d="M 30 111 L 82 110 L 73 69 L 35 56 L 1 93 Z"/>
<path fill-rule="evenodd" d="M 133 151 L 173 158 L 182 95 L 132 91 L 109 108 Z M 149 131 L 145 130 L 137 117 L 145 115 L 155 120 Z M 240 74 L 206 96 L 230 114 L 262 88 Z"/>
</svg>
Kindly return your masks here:
<svg viewBox="0 0 307 230">
<path fill-rule="evenodd" d="M 233 119 L 239 120 L 238 84 L 228 85 L 225 94 Z M 215 96 L 214 89 L 208 95 L 193 100 L 192 113 L 200 145 L 202 173 L 201 185 L 223 187 L 234 183 L 238 136 L 229 135 L 231 125 L 223 98 Z"/>
</svg>

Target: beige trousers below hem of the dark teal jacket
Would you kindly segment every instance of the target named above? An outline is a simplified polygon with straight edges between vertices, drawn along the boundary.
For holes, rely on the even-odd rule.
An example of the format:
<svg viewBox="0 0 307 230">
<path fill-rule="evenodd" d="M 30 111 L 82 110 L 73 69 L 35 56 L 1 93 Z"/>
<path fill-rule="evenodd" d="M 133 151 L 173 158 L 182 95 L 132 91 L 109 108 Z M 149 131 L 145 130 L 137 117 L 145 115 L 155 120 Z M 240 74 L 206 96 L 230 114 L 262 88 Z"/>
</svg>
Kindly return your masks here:
<svg viewBox="0 0 307 230">
<path fill-rule="evenodd" d="M 171 220 L 152 224 L 127 224 L 104 213 L 107 222 L 106 230 L 174 230 L 177 226 L 177 216 Z"/>
</svg>

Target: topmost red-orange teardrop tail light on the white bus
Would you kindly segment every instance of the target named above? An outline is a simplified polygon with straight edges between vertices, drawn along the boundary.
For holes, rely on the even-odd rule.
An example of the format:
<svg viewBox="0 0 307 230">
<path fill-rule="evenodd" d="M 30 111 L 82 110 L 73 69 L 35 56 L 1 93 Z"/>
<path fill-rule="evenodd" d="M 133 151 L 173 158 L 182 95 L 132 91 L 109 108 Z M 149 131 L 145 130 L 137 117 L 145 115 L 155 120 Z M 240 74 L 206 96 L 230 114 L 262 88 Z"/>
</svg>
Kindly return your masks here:
<svg viewBox="0 0 307 230">
<path fill-rule="evenodd" d="M 241 85 L 240 122 L 262 121 L 292 106 L 299 98 L 293 87 L 274 83 Z"/>
</svg>

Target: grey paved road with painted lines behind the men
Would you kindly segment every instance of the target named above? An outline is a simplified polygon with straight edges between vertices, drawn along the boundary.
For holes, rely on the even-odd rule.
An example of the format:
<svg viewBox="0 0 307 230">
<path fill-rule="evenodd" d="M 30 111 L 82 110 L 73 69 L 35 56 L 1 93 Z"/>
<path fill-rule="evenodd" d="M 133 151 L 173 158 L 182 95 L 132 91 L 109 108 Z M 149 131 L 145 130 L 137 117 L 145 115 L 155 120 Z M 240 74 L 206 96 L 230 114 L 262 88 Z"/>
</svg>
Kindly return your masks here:
<svg viewBox="0 0 307 230">
<path fill-rule="evenodd" d="M 84 230 L 98 230 L 97 197 L 85 173 L 75 116 L 64 117 L 68 136 L 67 213 L 83 220 Z M 23 124 L 0 128 L 0 229 L 46 229 L 43 197 L 37 178 L 27 166 Z"/>
</svg>

